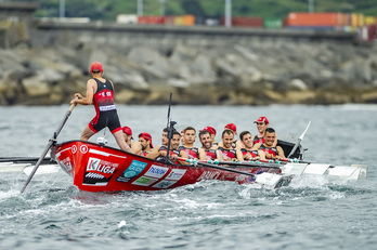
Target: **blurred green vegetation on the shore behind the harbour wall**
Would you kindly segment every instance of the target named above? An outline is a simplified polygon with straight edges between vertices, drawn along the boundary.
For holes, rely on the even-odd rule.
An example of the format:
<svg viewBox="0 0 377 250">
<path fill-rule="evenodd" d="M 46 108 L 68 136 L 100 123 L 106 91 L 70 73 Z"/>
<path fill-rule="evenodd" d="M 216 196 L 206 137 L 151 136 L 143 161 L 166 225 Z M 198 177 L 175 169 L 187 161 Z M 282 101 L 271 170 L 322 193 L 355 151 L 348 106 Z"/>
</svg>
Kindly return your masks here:
<svg viewBox="0 0 377 250">
<path fill-rule="evenodd" d="M 40 4 L 36 16 L 58 17 L 60 0 L 28 1 Z M 224 15 L 225 0 L 143 0 L 144 15 L 159 15 L 160 2 L 165 2 L 166 15 L 193 14 L 217 17 Z M 362 13 L 377 16 L 376 0 L 313 0 L 313 2 L 315 12 Z M 308 12 L 308 8 L 309 0 L 232 0 L 233 16 L 285 18 L 289 12 Z M 138 0 L 65 0 L 66 17 L 115 21 L 118 14 L 136 14 L 136 10 Z"/>
</svg>

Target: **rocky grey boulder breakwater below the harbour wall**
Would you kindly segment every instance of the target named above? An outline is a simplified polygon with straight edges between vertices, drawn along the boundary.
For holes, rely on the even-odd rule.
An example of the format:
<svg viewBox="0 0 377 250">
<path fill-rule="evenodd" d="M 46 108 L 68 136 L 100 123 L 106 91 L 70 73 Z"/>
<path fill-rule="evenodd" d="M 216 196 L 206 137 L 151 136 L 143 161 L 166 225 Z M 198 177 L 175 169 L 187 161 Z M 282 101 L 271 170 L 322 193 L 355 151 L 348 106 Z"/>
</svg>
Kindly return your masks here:
<svg viewBox="0 0 377 250">
<path fill-rule="evenodd" d="M 86 93 L 104 65 L 118 104 L 377 103 L 377 49 L 314 42 L 108 48 L 62 37 L 49 48 L 0 51 L 0 105 L 56 105 Z"/>
</svg>

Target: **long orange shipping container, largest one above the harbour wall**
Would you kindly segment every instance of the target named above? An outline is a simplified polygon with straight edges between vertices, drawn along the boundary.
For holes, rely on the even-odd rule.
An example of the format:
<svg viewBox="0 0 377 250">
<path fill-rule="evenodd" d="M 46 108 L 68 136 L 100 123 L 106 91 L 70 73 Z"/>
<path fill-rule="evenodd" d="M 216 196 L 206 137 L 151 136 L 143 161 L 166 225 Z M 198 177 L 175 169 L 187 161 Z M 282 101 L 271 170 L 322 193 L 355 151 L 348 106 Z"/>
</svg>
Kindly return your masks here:
<svg viewBox="0 0 377 250">
<path fill-rule="evenodd" d="M 287 26 L 311 26 L 311 27 L 330 27 L 344 24 L 344 16 L 341 13 L 289 13 Z"/>
</svg>

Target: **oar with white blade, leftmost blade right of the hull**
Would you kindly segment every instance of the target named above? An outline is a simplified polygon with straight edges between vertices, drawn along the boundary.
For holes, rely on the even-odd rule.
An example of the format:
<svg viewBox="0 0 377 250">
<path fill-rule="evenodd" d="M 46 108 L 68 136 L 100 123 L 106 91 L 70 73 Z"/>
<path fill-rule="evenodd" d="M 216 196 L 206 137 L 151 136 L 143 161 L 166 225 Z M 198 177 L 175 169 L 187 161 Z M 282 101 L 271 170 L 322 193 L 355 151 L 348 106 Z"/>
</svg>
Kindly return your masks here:
<svg viewBox="0 0 377 250">
<path fill-rule="evenodd" d="M 181 160 L 181 161 L 186 161 L 188 163 L 195 162 L 195 163 L 198 163 L 198 165 L 200 165 L 203 167 L 207 167 L 207 168 L 219 169 L 222 171 L 253 176 L 256 179 L 256 183 L 261 184 L 261 185 L 266 185 L 271 188 L 286 186 L 290 183 L 290 181 L 292 179 L 292 176 L 283 176 L 283 175 L 278 175 L 278 174 L 268 173 L 268 172 L 263 172 L 260 174 L 253 174 L 253 173 L 248 173 L 248 172 L 244 172 L 244 171 L 239 171 L 239 170 L 235 170 L 235 169 L 231 169 L 231 168 L 225 168 L 225 167 L 221 167 L 221 166 L 217 166 L 217 165 L 206 163 L 203 161 L 195 161 L 193 159 L 185 159 L 182 157 L 177 157 L 177 159 Z"/>
</svg>

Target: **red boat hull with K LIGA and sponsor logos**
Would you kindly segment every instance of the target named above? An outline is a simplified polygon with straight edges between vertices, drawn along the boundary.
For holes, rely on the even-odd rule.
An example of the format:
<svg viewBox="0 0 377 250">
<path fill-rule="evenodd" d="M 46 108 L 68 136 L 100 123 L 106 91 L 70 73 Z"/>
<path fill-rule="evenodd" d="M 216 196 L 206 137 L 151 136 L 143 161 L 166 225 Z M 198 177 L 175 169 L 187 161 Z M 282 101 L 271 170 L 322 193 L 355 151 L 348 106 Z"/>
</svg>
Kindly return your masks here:
<svg viewBox="0 0 377 250">
<path fill-rule="evenodd" d="M 249 175 L 208 167 L 166 165 L 99 144 L 72 141 L 57 144 L 52 153 L 57 163 L 87 192 L 160 190 L 203 180 L 252 183 Z M 278 168 L 229 167 L 247 173 L 281 173 Z"/>
</svg>

